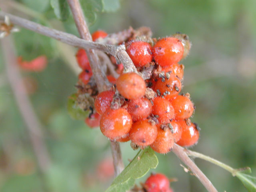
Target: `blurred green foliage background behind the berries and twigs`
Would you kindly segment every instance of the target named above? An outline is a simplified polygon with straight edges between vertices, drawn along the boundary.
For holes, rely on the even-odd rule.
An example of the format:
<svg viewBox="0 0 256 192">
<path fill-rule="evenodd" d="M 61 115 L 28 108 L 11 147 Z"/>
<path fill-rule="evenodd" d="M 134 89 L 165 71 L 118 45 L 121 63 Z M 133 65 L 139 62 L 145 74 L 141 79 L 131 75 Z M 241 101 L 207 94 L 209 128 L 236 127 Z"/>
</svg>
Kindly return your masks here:
<svg viewBox="0 0 256 192">
<path fill-rule="evenodd" d="M 255 0 L 105 0 L 115 12 L 99 13 L 90 31 L 108 33 L 148 26 L 154 37 L 176 32 L 192 42 L 185 65 L 183 92 L 196 105 L 192 121 L 202 129 L 192 149 L 234 168 L 250 166 L 256 175 L 256 1 Z M 49 0 L 2 0 L 2 9 L 78 35 L 72 17 L 58 21 Z M 68 96 L 76 92 L 75 52 L 70 46 L 21 29 L 13 35 L 16 52 L 25 60 L 45 54 L 43 72 L 22 72 L 37 82 L 30 94 L 42 123 L 51 168 L 41 174 L 26 126 L 17 108 L 0 58 L 0 191 L 1 192 L 102 192 L 112 178 L 100 179 L 98 164 L 111 157 L 109 142 L 99 129 L 72 120 L 66 110 Z M 125 164 L 137 151 L 121 144 Z M 155 172 L 178 178 L 175 192 L 203 192 L 202 184 L 180 166 L 173 154 L 157 155 Z M 237 178 L 203 160 L 196 164 L 218 191 L 244 192 Z M 149 173 L 148 173 L 149 174 Z M 147 175 L 148 175 L 147 174 Z M 140 181 L 144 181 L 144 176 Z M 139 181 L 138 181 L 139 182 Z"/>
</svg>

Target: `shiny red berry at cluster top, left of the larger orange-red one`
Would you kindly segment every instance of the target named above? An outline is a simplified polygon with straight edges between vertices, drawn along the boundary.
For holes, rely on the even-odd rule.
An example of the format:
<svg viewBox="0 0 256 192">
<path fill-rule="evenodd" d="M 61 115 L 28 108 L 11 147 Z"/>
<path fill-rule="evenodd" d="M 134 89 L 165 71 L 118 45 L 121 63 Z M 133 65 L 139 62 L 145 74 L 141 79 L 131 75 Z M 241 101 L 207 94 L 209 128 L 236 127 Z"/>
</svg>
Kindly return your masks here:
<svg viewBox="0 0 256 192">
<path fill-rule="evenodd" d="M 143 67 L 152 61 L 152 46 L 147 42 L 130 42 L 126 51 L 136 67 Z"/>
</svg>

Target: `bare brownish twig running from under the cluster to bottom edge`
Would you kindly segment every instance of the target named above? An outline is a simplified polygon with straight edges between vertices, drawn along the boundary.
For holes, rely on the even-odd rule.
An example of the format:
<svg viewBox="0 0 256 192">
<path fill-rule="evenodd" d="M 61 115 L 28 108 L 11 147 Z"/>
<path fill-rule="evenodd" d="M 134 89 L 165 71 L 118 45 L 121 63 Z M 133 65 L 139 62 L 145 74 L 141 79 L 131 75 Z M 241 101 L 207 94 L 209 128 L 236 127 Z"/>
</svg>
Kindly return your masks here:
<svg viewBox="0 0 256 192">
<path fill-rule="evenodd" d="M 204 187 L 209 192 L 218 192 L 216 188 L 213 186 L 212 182 L 205 176 L 205 174 L 196 166 L 196 164 L 188 157 L 186 150 L 177 145 L 174 144 L 172 151 L 180 158 L 186 166 L 194 173 L 194 175 L 200 180 L 200 182 L 204 185 Z"/>
</svg>

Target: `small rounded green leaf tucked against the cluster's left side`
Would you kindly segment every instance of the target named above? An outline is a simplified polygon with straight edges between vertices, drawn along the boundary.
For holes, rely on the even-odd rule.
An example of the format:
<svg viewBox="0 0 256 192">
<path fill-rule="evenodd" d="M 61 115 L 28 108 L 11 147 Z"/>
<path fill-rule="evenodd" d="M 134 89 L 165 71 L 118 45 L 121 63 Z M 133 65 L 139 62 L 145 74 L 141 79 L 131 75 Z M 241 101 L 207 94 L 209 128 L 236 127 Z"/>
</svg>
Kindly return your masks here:
<svg viewBox="0 0 256 192">
<path fill-rule="evenodd" d="M 69 98 L 68 98 L 68 114 L 76 120 L 84 120 L 88 114 L 89 111 L 88 110 L 82 110 L 76 103 L 76 94 L 72 94 Z"/>
</svg>

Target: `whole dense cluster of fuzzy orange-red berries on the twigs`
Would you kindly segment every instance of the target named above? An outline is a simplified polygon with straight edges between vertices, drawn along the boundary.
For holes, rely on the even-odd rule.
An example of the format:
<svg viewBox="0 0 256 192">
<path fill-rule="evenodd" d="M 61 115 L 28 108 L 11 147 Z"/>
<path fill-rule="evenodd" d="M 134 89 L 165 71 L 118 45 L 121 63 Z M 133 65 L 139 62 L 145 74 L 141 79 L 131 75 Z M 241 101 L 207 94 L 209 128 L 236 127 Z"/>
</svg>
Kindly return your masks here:
<svg viewBox="0 0 256 192">
<path fill-rule="evenodd" d="M 105 38 L 107 34 L 97 31 L 92 36 L 96 40 Z M 175 34 L 159 40 L 133 36 L 123 43 L 138 74 L 123 73 L 122 64 L 117 65 L 110 56 L 120 75 L 117 79 L 108 75 L 113 86 L 100 93 L 93 86 L 86 52 L 80 49 L 76 54 L 77 62 L 83 69 L 78 88 L 80 92 L 86 90 L 95 99 L 86 124 L 90 127 L 100 125 L 100 130 L 110 140 L 131 140 L 134 149 L 150 146 L 161 154 L 168 153 L 174 142 L 180 146 L 196 144 L 199 129 L 189 119 L 194 112 L 194 104 L 190 94 L 179 95 L 184 66 L 178 62 L 190 50 L 188 36 Z M 107 71 L 107 74 L 110 72 Z"/>
</svg>

